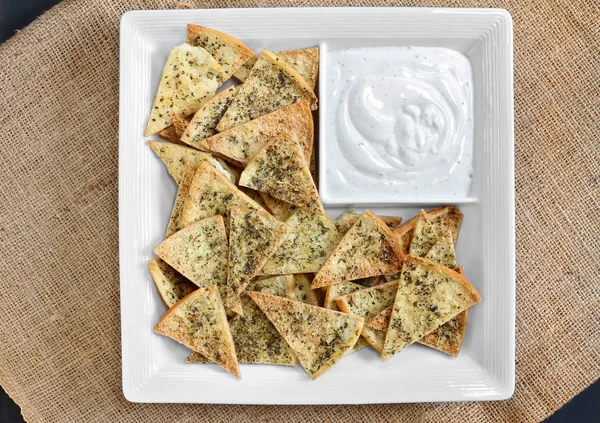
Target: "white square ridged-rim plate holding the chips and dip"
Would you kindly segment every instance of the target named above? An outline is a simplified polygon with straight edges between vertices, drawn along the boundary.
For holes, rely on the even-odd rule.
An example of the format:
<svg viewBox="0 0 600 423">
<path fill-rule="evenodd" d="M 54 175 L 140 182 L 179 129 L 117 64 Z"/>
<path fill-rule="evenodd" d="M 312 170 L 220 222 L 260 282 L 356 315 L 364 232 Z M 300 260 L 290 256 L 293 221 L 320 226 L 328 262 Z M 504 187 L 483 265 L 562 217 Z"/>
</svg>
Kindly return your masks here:
<svg viewBox="0 0 600 423">
<path fill-rule="evenodd" d="M 460 355 L 413 345 L 382 362 L 352 354 L 312 381 L 301 367 L 242 365 L 242 379 L 216 365 L 189 365 L 188 350 L 152 329 L 165 311 L 148 273 L 176 185 L 143 136 L 169 50 L 186 24 L 224 31 L 255 51 L 320 45 L 439 46 L 471 60 L 475 178 L 458 201 L 464 222 L 457 258 L 483 301 L 469 311 Z M 360 404 L 499 400 L 515 383 L 515 224 L 512 21 L 496 9 L 318 8 L 136 11 L 121 19 L 119 235 L 123 392 L 135 402 Z M 323 169 L 320 169 L 322 172 Z M 434 201 L 377 205 L 407 219 Z M 357 205 L 357 210 L 364 206 Z M 327 207 L 332 217 L 346 208 Z"/>
</svg>

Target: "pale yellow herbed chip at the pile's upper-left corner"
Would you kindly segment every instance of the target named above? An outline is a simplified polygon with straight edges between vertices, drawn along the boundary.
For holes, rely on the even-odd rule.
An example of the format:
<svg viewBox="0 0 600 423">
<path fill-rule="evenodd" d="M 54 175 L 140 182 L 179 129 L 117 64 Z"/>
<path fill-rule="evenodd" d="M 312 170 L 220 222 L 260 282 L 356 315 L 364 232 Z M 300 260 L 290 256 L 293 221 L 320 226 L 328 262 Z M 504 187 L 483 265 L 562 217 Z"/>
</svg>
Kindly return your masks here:
<svg viewBox="0 0 600 423">
<path fill-rule="evenodd" d="M 181 44 L 171 50 L 154 96 L 145 136 L 173 124 L 173 114 L 187 116 L 215 95 L 222 68 L 208 51 Z"/>
</svg>

